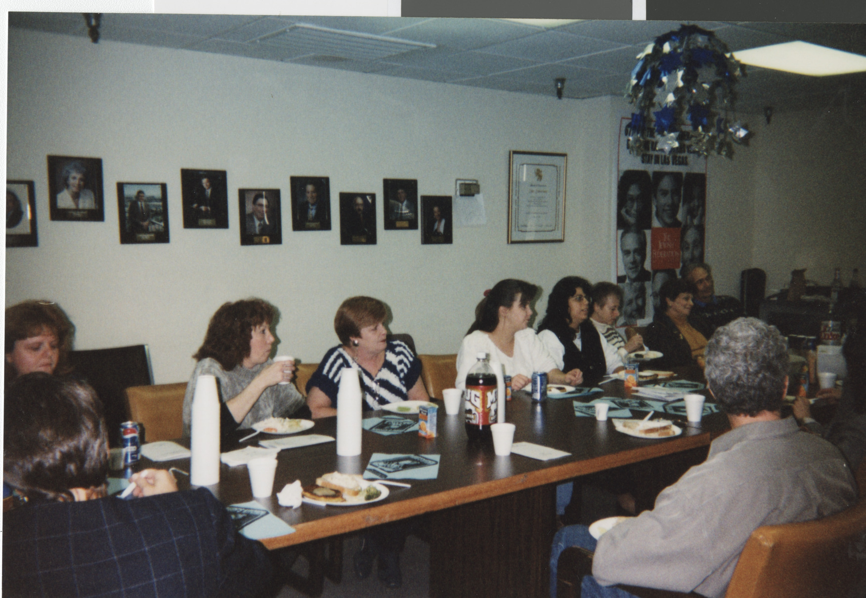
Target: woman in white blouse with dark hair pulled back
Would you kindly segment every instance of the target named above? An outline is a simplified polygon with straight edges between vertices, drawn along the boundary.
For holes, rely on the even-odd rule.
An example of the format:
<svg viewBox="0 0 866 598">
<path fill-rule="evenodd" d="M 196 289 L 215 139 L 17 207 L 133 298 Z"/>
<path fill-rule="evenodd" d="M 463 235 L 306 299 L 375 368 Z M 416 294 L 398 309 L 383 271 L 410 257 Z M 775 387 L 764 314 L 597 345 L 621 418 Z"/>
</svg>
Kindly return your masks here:
<svg viewBox="0 0 866 598">
<path fill-rule="evenodd" d="M 553 384 L 577 385 L 583 382 L 580 370 L 564 373 L 556 367 L 551 354 L 527 328 L 533 311 L 529 303 L 538 294 L 537 286 L 523 280 L 500 280 L 485 293 L 475 308 L 475 322 L 463 338 L 457 352 L 456 387 L 466 386 L 466 375 L 483 351 L 491 362 L 500 362 L 511 376 L 511 388 L 520 390 L 531 382 L 533 372 L 547 372 Z"/>
</svg>

